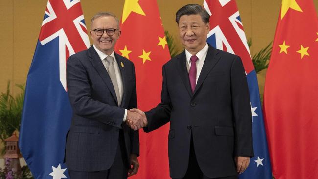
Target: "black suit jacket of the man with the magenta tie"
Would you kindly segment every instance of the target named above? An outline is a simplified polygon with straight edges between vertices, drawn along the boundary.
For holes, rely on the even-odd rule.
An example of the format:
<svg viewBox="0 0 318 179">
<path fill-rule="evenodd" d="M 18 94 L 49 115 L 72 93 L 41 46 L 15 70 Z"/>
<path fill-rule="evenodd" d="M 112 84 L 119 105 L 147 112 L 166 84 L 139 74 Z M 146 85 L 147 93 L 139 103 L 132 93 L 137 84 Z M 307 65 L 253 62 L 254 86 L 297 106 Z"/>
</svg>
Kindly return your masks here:
<svg viewBox="0 0 318 179">
<path fill-rule="evenodd" d="M 236 175 L 234 156 L 253 156 L 250 95 L 241 59 L 209 46 L 192 94 L 182 52 L 162 67 L 161 103 L 146 112 L 150 132 L 170 121 L 170 176 L 188 167 L 191 133 L 198 164 L 210 178 Z"/>
</svg>

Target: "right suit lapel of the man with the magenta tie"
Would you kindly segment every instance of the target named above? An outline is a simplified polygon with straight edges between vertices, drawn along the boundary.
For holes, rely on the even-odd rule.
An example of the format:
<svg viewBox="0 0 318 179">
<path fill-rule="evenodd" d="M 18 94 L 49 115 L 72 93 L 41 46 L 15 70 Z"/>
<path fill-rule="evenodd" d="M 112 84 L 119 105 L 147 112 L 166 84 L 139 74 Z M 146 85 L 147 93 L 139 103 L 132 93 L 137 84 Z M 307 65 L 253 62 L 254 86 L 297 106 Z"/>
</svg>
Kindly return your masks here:
<svg viewBox="0 0 318 179">
<path fill-rule="evenodd" d="M 204 82 L 207 74 L 212 70 L 219 59 L 220 56 L 218 55 L 218 52 L 213 47 L 209 46 L 199 79 L 197 81 L 197 85 L 195 86 L 195 89 L 193 91 L 193 95 L 195 95 L 195 93 L 198 91 L 198 89 Z"/>
</svg>

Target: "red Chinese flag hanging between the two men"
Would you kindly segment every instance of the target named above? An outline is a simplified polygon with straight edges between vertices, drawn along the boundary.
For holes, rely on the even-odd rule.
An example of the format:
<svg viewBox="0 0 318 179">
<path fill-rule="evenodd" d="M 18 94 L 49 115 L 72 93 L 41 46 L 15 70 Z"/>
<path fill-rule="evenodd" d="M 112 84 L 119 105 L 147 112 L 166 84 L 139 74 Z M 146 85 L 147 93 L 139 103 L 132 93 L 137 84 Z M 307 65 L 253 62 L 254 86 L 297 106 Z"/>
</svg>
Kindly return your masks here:
<svg viewBox="0 0 318 179">
<path fill-rule="evenodd" d="M 138 108 L 148 111 L 160 102 L 162 65 L 170 59 L 156 0 L 126 0 L 116 52 L 136 68 Z M 168 132 L 165 125 L 140 135 L 138 174 L 131 179 L 170 179 Z"/>
</svg>

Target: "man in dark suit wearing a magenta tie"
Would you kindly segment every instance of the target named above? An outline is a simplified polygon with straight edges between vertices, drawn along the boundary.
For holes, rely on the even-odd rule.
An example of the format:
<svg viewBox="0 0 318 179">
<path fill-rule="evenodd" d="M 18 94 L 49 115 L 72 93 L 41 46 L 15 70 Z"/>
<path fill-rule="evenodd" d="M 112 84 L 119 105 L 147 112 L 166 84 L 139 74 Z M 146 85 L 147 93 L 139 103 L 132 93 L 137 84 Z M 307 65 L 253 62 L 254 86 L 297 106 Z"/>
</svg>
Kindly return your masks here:
<svg viewBox="0 0 318 179">
<path fill-rule="evenodd" d="M 185 5 L 176 22 L 185 51 L 162 67 L 161 103 L 131 111 L 147 118 L 146 132 L 170 121 L 173 179 L 237 179 L 254 155 L 242 61 L 206 43 L 209 14 L 202 6 Z"/>
</svg>

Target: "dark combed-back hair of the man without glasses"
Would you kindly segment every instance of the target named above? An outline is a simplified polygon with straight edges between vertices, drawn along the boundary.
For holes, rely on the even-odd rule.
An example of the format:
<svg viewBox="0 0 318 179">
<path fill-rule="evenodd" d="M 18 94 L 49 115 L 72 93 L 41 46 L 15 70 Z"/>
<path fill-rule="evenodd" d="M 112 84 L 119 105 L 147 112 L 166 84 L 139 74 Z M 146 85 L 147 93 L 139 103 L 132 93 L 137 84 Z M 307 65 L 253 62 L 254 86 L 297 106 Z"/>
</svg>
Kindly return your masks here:
<svg viewBox="0 0 318 179">
<path fill-rule="evenodd" d="M 209 13 L 206 12 L 204 7 L 199 4 L 187 4 L 180 8 L 176 13 L 176 22 L 179 24 L 180 17 L 183 15 L 197 15 L 200 14 L 204 23 L 208 23 L 210 20 Z"/>
</svg>

